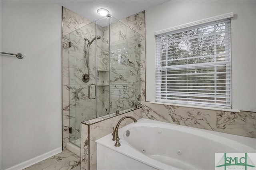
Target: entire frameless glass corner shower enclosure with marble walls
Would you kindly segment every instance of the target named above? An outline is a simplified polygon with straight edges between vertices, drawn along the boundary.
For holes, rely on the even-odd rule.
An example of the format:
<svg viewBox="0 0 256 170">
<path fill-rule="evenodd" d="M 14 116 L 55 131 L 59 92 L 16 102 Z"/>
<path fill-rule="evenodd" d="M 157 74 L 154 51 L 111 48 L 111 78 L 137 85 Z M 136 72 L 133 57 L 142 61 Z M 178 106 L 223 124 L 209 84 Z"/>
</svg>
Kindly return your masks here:
<svg viewBox="0 0 256 170">
<path fill-rule="evenodd" d="M 70 142 L 80 124 L 140 106 L 140 35 L 112 16 L 69 34 Z"/>
</svg>

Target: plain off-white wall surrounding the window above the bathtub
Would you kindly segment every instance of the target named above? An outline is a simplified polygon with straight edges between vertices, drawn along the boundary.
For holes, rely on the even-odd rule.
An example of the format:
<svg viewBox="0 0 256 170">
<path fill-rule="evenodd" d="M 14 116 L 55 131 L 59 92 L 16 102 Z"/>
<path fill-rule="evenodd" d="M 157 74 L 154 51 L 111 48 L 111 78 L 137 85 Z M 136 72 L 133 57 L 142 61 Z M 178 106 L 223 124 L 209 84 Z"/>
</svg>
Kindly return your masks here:
<svg viewBox="0 0 256 170">
<path fill-rule="evenodd" d="M 170 1 L 146 10 L 146 101 L 154 101 L 154 32 L 234 12 L 232 108 L 256 111 L 256 1 Z M 153 75 L 153 76 L 152 76 Z"/>
</svg>

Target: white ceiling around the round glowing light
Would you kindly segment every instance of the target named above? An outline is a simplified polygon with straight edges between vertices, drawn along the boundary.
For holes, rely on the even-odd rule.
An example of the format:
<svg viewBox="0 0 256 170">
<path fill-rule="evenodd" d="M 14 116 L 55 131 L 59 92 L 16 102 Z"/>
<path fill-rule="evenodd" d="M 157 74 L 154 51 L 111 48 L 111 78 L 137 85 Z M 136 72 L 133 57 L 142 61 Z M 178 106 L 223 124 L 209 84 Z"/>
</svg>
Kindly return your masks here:
<svg viewBox="0 0 256 170">
<path fill-rule="evenodd" d="M 97 13 L 99 8 L 107 9 L 110 14 L 121 20 L 148 8 L 158 6 L 169 0 L 53 0 L 55 4 L 95 21 L 102 16 Z"/>
</svg>

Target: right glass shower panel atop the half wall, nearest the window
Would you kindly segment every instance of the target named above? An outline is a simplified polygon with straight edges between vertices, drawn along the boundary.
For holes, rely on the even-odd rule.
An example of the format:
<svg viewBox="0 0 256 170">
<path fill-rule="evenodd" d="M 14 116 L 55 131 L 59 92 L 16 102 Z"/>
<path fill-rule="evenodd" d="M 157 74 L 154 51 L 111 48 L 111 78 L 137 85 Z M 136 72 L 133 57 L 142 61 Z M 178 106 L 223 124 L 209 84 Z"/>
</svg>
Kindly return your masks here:
<svg viewBox="0 0 256 170">
<path fill-rule="evenodd" d="M 115 113 L 140 106 L 140 34 L 111 20 L 110 113 Z"/>
</svg>

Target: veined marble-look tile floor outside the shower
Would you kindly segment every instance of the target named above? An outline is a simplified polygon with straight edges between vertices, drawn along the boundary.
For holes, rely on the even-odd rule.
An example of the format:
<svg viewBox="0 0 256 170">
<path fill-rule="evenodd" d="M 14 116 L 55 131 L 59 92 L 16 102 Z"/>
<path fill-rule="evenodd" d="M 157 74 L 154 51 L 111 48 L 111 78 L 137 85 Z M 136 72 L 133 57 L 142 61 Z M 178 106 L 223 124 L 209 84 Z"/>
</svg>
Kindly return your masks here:
<svg viewBox="0 0 256 170">
<path fill-rule="evenodd" d="M 69 150 L 63 150 L 24 170 L 80 170 L 80 157 Z"/>
</svg>

